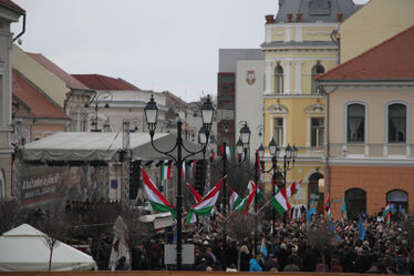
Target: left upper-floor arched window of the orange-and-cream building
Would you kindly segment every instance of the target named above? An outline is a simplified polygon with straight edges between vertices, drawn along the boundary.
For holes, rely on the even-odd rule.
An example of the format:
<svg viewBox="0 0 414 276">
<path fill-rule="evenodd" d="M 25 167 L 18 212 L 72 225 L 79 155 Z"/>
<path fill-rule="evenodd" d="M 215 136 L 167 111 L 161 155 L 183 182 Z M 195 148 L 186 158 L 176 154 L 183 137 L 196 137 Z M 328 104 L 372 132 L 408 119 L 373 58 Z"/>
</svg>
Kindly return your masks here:
<svg viewBox="0 0 414 276">
<path fill-rule="evenodd" d="M 365 106 L 353 103 L 348 105 L 348 143 L 365 141 Z"/>
</svg>

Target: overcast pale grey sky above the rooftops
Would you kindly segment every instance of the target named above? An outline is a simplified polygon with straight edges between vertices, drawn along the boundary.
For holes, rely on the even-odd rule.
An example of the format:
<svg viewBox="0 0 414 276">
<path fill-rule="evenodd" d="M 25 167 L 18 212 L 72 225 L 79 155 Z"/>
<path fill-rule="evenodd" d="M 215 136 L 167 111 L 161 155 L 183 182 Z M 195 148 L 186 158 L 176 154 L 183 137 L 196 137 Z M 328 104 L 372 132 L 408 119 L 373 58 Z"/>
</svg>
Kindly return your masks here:
<svg viewBox="0 0 414 276">
<path fill-rule="evenodd" d="M 259 48 L 265 14 L 278 9 L 278 0 L 13 1 L 27 11 L 24 51 L 68 73 L 122 78 L 187 101 L 216 94 L 218 49 Z"/>
</svg>

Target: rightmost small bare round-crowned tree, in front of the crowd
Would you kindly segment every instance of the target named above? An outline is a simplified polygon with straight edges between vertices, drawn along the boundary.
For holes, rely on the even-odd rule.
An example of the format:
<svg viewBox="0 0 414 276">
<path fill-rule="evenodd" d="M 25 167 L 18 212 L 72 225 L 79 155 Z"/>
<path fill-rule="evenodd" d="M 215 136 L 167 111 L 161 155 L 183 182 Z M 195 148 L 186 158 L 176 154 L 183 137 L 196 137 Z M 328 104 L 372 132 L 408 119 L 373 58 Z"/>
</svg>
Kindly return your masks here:
<svg viewBox="0 0 414 276">
<path fill-rule="evenodd" d="M 320 253 L 323 267 L 325 267 L 325 256 L 335 245 L 333 233 L 329 229 L 327 223 L 318 221 L 308 229 L 308 243 Z"/>
</svg>

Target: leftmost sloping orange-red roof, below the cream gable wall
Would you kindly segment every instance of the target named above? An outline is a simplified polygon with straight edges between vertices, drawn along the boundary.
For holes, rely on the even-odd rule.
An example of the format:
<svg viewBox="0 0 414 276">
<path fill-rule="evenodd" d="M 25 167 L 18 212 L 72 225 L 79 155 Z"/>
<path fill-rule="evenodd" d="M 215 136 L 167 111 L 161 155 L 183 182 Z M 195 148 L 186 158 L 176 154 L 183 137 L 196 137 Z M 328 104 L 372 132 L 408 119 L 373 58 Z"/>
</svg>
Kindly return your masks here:
<svg viewBox="0 0 414 276">
<path fill-rule="evenodd" d="M 49 100 L 15 70 L 13 70 L 12 90 L 13 95 L 29 106 L 34 116 L 69 119 L 62 108 Z"/>
</svg>

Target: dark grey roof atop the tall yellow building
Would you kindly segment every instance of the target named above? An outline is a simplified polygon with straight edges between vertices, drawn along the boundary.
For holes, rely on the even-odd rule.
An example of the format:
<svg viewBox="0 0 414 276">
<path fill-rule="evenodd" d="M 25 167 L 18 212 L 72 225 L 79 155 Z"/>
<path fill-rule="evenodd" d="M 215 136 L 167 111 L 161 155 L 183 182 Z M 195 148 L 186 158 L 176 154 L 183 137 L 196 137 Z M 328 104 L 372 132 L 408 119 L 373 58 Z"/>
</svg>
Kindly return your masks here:
<svg viewBox="0 0 414 276">
<path fill-rule="evenodd" d="M 352 0 L 279 0 L 279 12 L 276 22 L 288 22 L 288 14 L 297 21 L 301 13 L 301 22 L 338 22 L 338 13 L 342 13 L 342 21 L 354 13 L 361 6 Z"/>
</svg>

